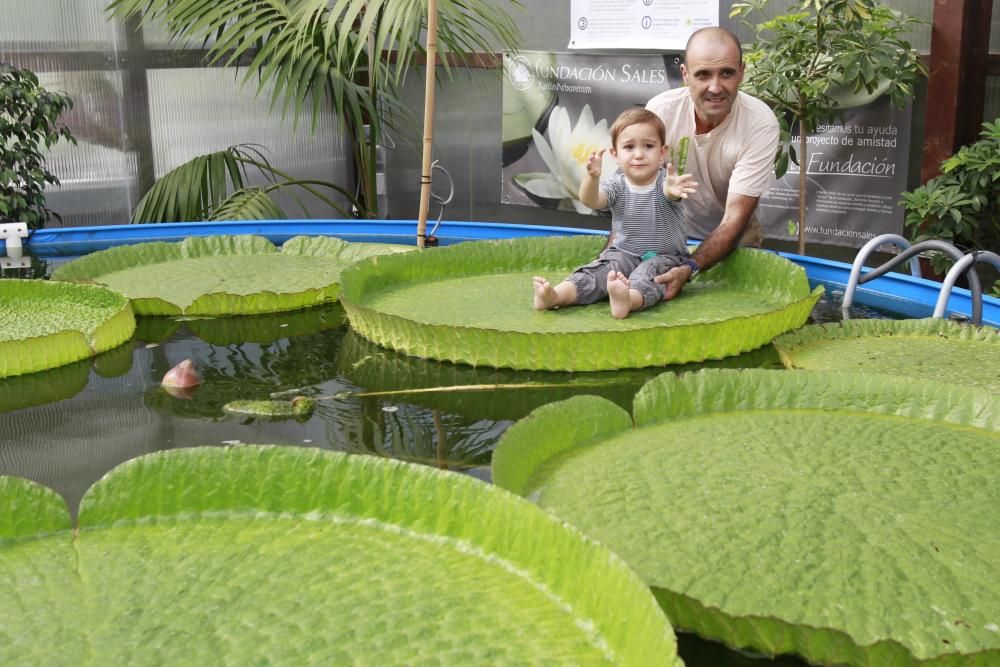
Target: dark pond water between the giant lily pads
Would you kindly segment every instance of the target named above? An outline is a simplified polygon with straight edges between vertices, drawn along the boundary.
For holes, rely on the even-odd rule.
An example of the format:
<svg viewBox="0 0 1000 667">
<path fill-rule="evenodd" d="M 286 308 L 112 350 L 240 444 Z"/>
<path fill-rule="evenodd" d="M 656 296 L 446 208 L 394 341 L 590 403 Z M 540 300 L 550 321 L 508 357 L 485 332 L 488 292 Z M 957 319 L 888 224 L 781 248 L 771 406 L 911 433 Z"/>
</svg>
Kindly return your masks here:
<svg viewBox="0 0 1000 667">
<path fill-rule="evenodd" d="M 865 310 L 855 316 L 891 317 Z M 827 295 L 815 321 L 839 319 Z M 160 387 L 191 358 L 203 383 L 189 398 Z M 230 320 L 140 319 L 133 341 L 95 359 L 0 380 L 0 475 L 59 492 L 75 513 L 86 489 L 142 454 L 197 445 L 269 443 L 414 461 L 489 481 L 493 448 L 532 409 L 582 393 L 626 409 L 665 370 L 780 368 L 767 346 L 680 367 L 600 373 L 516 372 L 434 362 L 375 346 L 350 330 L 339 305 Z M 237 399 L 316 398 L 308 418 L 231 415 Z M 760 664 L 682 635 L 689 665 Z M 774 661 L 769 661 L 774 662 Z M 776 664 L 804 664 L 781 658 Z"/>
</svg>

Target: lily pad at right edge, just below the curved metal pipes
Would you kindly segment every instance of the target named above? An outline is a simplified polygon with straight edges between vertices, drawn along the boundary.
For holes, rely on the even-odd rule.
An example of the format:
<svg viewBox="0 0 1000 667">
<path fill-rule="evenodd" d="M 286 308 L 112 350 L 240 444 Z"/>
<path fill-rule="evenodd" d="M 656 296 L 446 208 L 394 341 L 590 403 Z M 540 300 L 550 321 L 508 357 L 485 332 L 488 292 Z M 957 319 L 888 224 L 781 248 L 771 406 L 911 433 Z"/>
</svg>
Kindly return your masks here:
<svg viewBox="0 0 1000 667">
<path fill-rule="evenodd" d="M 774 341 L 788 368 L 922 377 L 1000 393 L 1000 330 L 942 319 L 847 320 Z"/>
</svg>

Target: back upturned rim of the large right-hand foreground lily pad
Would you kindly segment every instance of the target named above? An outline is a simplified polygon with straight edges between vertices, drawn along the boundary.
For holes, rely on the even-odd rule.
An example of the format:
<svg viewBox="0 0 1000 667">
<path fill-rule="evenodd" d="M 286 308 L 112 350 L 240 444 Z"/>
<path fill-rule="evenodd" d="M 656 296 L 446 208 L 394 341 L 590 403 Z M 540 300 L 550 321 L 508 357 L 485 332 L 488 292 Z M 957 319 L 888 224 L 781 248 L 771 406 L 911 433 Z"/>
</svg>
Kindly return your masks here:
<svg viewBox="0 0 1000 667">
<path fill-rule="evenodd" d="M 666 372 L 639 389 L 631 415 L 596 396 L 574 396 L 534 410 L 501 437 L 493 453 L 493 482 L 523 495 L 530 491 L 531 475 L 546 461 L 622 430 L 717 413 L 775 409 L 858 410 L 1000 431 L 997 399 L 958 385 L 840 371 Z M 558 414 L 573 414 L 576 419 L 559 437 L 520 434 L 532 433 L 534 422 Z"/>
</svg>

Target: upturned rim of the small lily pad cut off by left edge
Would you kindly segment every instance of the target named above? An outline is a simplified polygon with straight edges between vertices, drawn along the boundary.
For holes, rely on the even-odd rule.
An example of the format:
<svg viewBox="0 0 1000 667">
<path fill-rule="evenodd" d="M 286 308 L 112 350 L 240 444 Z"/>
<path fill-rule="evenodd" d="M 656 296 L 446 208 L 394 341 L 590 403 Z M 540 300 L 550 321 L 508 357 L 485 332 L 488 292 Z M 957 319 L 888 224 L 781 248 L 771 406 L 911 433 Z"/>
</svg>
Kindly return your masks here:
<svg viewBox="0 0 1000 667">
<path fill-rule="evenodd" d="M 103 322 L 74 327 L 67 320 L 61 331 L 38 333 L 21 338 L 0 340 L 0 378 L 25 375 L 65 366 L 93 357 L 126 343 L 135 332 L 135 316 L 128 299 L 100 285 L 71 285 L 48 280 L 9 278 L 0 281 L 0 297 L 15 292 L 31 298 L 32 308 L 58 307 L 95 300 L 96 308 L 109 315 Z M 45 304 L 51 300 L 53 304 Z"/>
</svg>

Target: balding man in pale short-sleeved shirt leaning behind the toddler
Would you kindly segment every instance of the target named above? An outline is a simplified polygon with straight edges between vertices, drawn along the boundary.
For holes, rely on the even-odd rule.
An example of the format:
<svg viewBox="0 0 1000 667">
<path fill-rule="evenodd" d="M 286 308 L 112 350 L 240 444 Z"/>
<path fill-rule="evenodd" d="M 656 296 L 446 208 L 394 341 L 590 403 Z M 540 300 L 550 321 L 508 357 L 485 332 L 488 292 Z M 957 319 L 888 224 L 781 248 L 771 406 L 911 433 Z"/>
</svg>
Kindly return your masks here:
<svg viewBox="0 0 1000 667">
<path fill-rule="evenodd" d="M 681 74 L 687 85 L 646 105 L 666 125 L 671 151 L 688 138 L 685 170 L 699 184 L 685 203 L 685 223 L 688 234 L 703 241 L 685 264 L 656 277 L 666 286 L 664 300 L 738 242 L 759 246 L 763 238 L 754 211 L 773 179 L 778 121 L 764 102 L 739 91 L 743 70 L 736 36 L 725 28 L 702 28 L 685 49 Z"/>
</svg>

